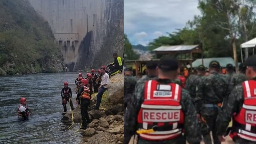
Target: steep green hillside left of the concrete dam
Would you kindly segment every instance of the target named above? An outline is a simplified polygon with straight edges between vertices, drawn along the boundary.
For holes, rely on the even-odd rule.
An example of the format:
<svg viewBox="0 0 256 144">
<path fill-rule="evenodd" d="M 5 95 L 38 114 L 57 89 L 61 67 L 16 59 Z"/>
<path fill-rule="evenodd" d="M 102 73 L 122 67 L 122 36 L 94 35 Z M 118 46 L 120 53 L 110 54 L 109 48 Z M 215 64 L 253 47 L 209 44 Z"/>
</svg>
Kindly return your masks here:
<svg viewBox="0 0 256 144">
<path fill-rule="evenodd" d="M 0 1 L 0 75 L 63 71 L 48 22 L 28 0 Z"/>
</svg>

